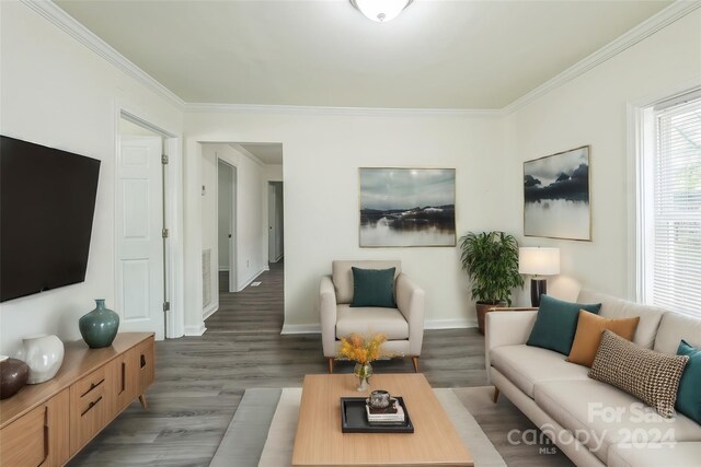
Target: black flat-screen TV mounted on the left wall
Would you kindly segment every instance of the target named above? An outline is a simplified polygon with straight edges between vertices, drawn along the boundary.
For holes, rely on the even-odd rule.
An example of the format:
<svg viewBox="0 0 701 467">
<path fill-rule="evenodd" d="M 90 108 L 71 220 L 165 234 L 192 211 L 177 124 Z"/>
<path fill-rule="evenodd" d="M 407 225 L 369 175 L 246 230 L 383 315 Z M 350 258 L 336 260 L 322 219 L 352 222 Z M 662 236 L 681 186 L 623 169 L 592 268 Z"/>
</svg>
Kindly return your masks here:
<svg viewBox="0 0 701 467">
<path fill-rule="evenodd" d="M 0 136 L 0 302 L 85 280 L 100 161 Z"/>
</svg>

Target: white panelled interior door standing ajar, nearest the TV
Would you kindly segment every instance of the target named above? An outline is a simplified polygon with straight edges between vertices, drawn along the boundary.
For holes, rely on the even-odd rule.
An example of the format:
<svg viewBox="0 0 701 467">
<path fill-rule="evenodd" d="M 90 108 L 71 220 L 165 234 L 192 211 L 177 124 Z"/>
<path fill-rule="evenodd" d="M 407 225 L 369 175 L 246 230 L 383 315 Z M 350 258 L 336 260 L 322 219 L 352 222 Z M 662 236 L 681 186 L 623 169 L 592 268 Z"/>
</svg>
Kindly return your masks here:
<svg viewBox="0 0 701 467">
<path fill-rule="evenodd" d="M 116 311 L 120 331 L 164 337 L 160 137 L 123 136 L 117 154 Z"/>
</svg>

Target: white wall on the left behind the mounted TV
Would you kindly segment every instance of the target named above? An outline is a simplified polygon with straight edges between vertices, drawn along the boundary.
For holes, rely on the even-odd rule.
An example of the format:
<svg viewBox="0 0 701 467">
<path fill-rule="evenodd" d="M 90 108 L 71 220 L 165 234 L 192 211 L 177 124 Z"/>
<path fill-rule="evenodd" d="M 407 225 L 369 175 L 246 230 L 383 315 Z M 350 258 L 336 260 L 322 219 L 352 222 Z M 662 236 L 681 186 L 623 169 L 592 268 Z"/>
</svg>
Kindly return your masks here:
<svg viewBox="0 0 701 467">
<path fill-rule="evenodd" d="M 176 133 L 182 113 L 25 4 L 2 1 L 0 16 L 0 132 L 102 161 L 85 282 L 2 303 L 0 353 L 12 354 L 30 334 L 79 339 L 78 319 L 93 299 L 115 303 L 118 107 Z"/>
</svg>

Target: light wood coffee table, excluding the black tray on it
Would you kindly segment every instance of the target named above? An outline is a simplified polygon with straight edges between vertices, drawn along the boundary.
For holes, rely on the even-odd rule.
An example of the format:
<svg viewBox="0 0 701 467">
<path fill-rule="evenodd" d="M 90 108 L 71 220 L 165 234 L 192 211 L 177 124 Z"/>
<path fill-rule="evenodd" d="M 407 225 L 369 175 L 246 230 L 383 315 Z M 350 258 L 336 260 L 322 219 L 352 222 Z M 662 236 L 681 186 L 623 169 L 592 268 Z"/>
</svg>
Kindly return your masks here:
<svg viewBox="0 0 701 467">
<path fill-rule="evenodd" d="M 361 397 L 352 374 L 307 375 L 295 435 L 294 466 L 473 466 L 423 374 L 380 374 L 370 390 L 402 396 L 414 433 L 342 433 L 341 397 Z"/>
</svg>

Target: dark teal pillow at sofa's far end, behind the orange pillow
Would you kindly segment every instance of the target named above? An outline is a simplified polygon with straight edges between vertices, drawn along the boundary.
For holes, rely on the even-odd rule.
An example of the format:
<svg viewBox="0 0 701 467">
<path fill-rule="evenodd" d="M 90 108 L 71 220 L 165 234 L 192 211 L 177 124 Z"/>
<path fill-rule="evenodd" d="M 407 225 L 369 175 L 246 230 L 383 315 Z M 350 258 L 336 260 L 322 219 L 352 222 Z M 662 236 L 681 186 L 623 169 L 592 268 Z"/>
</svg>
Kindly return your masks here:
<svg viewBox="0 0 701 467">
<path fill-rule="evenodd" d="M 526 345 L 568 355 L 577 331 L 579 310 L 598 315 L 601 304 L 583 305 L 542 295 L 536 324 Z"/>
</svg>

